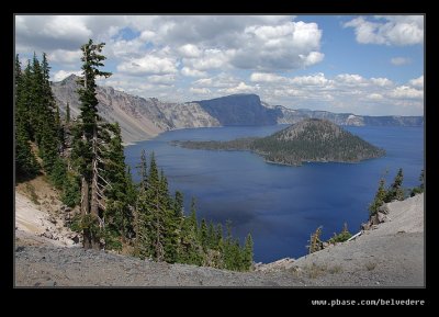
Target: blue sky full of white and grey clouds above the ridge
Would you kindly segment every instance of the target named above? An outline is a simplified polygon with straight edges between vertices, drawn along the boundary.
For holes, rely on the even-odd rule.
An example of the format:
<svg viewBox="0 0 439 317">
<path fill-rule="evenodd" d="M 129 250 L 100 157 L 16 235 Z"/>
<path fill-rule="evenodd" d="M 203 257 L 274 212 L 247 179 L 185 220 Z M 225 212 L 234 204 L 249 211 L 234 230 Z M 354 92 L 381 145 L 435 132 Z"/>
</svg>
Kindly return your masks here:
<svg viewBox="0 0 439 317">
<path fill-rule="evenodd" d="M 424 114 L 423 15 L 15 15 L 25 66 L 80 75 L 104 42 L 98 81 L 162 101 L 256 93 L 271 105 L 360 115 Z"/>
</svg>

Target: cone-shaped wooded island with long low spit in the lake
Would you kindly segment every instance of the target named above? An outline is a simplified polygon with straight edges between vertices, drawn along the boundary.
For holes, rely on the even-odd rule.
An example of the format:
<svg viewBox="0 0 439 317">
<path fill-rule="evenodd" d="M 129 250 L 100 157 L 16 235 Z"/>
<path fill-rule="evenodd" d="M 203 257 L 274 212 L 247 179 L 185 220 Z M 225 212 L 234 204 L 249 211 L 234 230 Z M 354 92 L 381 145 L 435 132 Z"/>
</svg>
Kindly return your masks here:
<svg viewBox="0 0 439 317">
<path fill-rule="evenodd" d="M 249 150 L 267 162 L 301 166 L 303 162 L 358 162 L 379 158 L 385 150 L 342 129 L 328 120 L 306 118 L 267 137 L 226 141 L 173 140 L 175 146 L 207 150 Z"/>
</svg>

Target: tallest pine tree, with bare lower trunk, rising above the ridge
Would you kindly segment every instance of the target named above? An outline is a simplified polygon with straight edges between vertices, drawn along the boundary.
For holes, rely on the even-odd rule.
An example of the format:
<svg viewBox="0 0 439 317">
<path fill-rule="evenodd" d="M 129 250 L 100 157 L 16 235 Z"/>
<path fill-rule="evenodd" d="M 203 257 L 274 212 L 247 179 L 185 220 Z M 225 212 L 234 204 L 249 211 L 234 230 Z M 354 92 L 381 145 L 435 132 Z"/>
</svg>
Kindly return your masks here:
<svg viewBox="0 0 439 317">
<path fill-rule="evenodd" d="M 105 208 L 104 202 L 99 200 L 99 124 L 101 118 L 98 115 L 98 99 L 95 97 L 95 78 L 110 77 L 110 72 L 99 70 L 104 66 L 105 57 L 101 55 L 105 44 L 93 44 L 92 39 L 81 46 L 82 50 L 82 77 L 78 80 L 80 105 L 80 138 L 77 135 L 74 150 L 78 161 L 78 172 L 81 177 L 81 214 L 83 217 L 83 247 L 86 249 L 100 248 L 100 230 L 102 219 L 99 210 Z M 106 181 L 102 181 L 108 185 Z M 99 224 L 98 224 L 99 220 Z"/>
</svg>

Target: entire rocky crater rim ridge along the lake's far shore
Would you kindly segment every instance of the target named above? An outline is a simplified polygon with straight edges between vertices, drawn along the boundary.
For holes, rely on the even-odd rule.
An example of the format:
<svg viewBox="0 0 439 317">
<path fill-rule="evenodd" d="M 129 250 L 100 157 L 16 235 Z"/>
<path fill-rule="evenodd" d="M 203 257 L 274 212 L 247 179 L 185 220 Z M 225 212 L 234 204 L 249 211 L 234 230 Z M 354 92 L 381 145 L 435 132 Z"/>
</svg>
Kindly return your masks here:
<svg viewBox="0 0 439 317">
<path fill-rule="evenodd" d="M 53 82 L 52 90 L 60 112 L 67 102 L 71 115 L 78 116 L 79 101 L 76 93 L 77 76 L 70 75 Z M 121 125 L 125 143 L 144 140 L 158 134 L 178 129 L 235 125 L 293 124 L 304 118 L 326 118 L 338 125 L 421 126 L 423 116 L 362 116 L 351 113 L 292 110 L 282 105 L 268 105 L 257 94 L 233 94 L 211 100 L 171 103 L 156 98 L 140 98 L 115 90 L 98 87 L 99 113 Z"/>
</svg>

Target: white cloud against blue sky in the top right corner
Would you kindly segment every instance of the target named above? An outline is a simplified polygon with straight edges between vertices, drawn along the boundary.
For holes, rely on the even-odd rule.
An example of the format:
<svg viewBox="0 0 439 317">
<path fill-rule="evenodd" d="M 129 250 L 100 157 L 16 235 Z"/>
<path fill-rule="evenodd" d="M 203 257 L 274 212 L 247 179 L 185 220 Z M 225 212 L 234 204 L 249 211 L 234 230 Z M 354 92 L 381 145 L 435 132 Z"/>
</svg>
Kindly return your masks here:
<svg viewBox="0 0 439 317">
<path fill-rule="evenodd" d="M 423 15 L 375 16 L 374 22 L 359 16 L 344 26 L 353 27 L 357 42 L 361 44 L 404 46 L 424 43 Z"/>
</svg>

